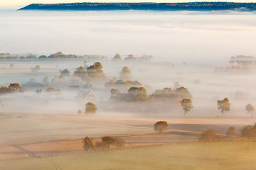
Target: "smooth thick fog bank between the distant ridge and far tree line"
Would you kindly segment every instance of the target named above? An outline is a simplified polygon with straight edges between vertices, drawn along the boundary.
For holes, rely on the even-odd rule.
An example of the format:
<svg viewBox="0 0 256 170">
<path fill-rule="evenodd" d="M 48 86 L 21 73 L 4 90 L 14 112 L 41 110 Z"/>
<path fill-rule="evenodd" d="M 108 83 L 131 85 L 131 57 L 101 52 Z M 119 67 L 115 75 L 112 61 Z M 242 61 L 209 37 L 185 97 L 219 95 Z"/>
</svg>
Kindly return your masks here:
<svg viewBox="0 0 256 170">
<path fill-rule="evenodd" d="M 225 62 L 255 55 L 255 13 L 240 11 L 0 11 L 1 52 L 57 51 Z"/>
</svg>

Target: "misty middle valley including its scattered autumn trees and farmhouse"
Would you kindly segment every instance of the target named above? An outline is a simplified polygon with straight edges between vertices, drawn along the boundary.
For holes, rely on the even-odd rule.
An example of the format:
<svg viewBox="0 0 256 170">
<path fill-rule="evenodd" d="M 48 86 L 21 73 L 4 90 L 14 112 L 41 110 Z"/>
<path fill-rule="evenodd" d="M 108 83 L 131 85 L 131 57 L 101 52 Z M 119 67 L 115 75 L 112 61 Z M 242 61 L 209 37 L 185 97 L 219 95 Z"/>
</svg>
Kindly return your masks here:
<svg viewBox="0 0 256 170">
<path fill-rule="evenodd" d="M 10 53 L 0 57 L 4 111 L 84 115 L 85 104 L 90 102 L 97 106 L 97 114 L 105 117 L 125 117 L 127 113 L 223 117 L 217 101 L 227 98 L 232 109 L 226 117 L 253 117 L 244 107 L 254 104 L 256 97 L 249 83 L 255 76 L 254 57 L 237 55 L 223 63 L 224 67 L 157 62 L 150 60 L 152 55 L 124 57 L 118 53 L 109 59 L 61 52 L 48 57 Z"/>
</svg>

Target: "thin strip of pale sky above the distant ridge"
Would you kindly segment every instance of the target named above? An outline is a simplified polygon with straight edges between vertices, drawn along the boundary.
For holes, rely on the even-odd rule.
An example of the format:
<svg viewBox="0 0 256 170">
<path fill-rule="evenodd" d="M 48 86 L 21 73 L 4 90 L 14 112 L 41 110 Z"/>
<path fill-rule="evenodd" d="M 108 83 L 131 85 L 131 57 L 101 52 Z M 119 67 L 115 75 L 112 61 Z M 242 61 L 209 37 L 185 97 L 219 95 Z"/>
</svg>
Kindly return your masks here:
<svg viewBox="0 0 256 170">
<path fill-rule="evenodd" d="M 32 3 L 79 3 L 79 2 L 155 2 L 155 3 L 182 3 L 182 2 L 191 2 L 195 0 L 0 0 L 0 6 L 26 6 Z M 209 1 L 209 0 L 196 0 L 196 1 Z M 213 0 L 218 1 L 218 0 Z M 223 0 L 222 0 L 223 1 Z M 224 0 L 231 2 L 255 2 L 256 0 Z"/>
</svg>

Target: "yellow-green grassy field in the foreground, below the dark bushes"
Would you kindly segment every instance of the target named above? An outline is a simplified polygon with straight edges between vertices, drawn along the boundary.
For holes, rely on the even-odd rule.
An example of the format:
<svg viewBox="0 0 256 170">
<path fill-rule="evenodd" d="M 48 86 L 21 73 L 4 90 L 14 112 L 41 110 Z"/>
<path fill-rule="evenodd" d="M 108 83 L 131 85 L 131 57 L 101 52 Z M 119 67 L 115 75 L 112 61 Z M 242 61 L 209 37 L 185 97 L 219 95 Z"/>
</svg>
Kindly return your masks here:
<svg viewBox="0 0 256 170">
<path fill-rule="evenodd" d="M 3 160 L 0 169 L 256 169 L 256 141 L 219 141 Z"/>
</svg>

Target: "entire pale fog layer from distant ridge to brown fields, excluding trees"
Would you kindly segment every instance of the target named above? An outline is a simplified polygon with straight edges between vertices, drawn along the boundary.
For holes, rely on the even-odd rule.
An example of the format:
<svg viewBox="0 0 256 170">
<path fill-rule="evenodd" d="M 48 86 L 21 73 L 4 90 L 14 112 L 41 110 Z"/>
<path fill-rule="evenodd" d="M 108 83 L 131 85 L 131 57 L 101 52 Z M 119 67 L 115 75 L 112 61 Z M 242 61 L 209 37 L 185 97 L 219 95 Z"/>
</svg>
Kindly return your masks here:
<svg viewBox="0 0 256 170">
<path fill-rule="evenodd" d="M 215 68 L 230 66 L 228 61 L 232 55 L 255 55 L 256 22 L 253 22 L 253 12 L 6 10 L 0 11 L 0 15 L 0 52 L 18 53 L 20 56 L 28 53 L 50 55 L 58 51 L 105 55 L 108 60 L 99 61 L 106 81 L 118 80 L 122 67 L 127 66 L 131 69 L 131 80 L 140 81 L 148 96 L 164 87 L 175 90 L 177 82 L 180 87 L 186 87 L 193 96 L 194 108 L 189 117 L 220 116 L 216 101 L 225 97 L 230 99 L 232 108 L 225 113 L 227 117 L 250 117 L 246 115 L 244 106 L 255 101 L 254 66 L 250 73 L 218 73 Z M 111 59 L 116 53 L 120 53 L 122 59 L 131 53 L 135 57 L 145 53 L 154 57 L 150 62 L 113 62 Z M 96 61 L 88 60 L 88 66 Z M 0 83 L 7 87 L 14 82 L 24 85 L 31 78 L 43 83 L 45 76 L 51 81 L 66 68 L 72 76 L 83 62 L 83 59 L 1 61 Z M 11 63 L 14 64 L 12 69 Z M 36 65 L 42 69 L 39 73 L 31 73 L 31 67 Z M 194 83 L 195 80 L 198 83 Z M 77 110 L 84 111 L 85 103 L 76 101 L 78 90 L 68 90 L 73 85 L 72 81 L 72 78 L 65 79 L 64 87 L 51 85 L 61 90 L 61 100 L 47 95 L 46 88 L 42 89 L 40 96 L 35 94 L 36 89 L 28 88 L 19 95 L 3 96 L 4 110 L 77 114 Z M 106 81 L 94 83 L 89 89 L 96 96 L 98 116 L 115 115 L 120 111 L 106 109 L 111 90 L 104 86 Z M 86 84 L 81 80 L 77 82 L 80 89 Z M 128 89 L 120 90 L 127 92 Z M 131 114 L 124 112 L 126 116 Z M 182 116 L 179 104 L 173 106 L 173 110 L 168 108 L 162 112 L 157 116 Z M 143 117 L 154 115 L 141 111 L 135 113 Z"/>
</svg>

